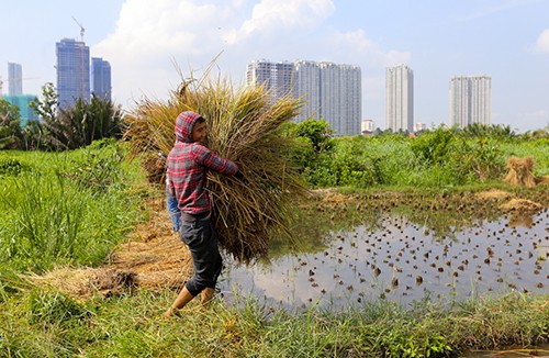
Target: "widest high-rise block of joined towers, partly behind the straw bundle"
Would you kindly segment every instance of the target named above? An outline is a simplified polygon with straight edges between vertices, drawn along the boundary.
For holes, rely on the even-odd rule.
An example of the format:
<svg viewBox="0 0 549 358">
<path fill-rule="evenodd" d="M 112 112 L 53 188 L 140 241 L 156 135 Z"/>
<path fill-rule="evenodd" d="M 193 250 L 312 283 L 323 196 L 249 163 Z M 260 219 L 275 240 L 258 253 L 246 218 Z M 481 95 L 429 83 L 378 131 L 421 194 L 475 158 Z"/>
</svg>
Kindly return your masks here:
<svg viewBox="0 0 549 358">
<path fill-rule="evenodd" d="M 360 134 L 360 67 L 310 60 L 255 60 L 247 66 L 246 79 L 248 85 L 265 85 L 274 98 L 287 93 L 302 98 L 305 103 L 294 119 L 296 122 L 317 118 L 325 120 L 335 135 Z"/>
</svg>

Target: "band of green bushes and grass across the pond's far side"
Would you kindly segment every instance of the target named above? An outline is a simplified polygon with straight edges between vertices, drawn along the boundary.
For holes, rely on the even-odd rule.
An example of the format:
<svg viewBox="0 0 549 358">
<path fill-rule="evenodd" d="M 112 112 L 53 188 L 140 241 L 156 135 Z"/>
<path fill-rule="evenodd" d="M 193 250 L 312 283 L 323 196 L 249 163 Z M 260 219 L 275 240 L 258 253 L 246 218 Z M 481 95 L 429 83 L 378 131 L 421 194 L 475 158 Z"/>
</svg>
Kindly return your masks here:
<svg viewBox="0 0 549 358">
<path fill-rule="evenodd" d="M 549 139 L 525 139 L 508 127 L 472 126 L 464 132 L 440 126 L 418 137 L 390 133 L 335 137 L 329 150 L 318 153 L 309 137 L 299 139 L 302 145 L 291 155 L 302 168 L 302 179 L 314 188 L 451 188 L 498 180 L 511 155 L 534 157 L 537 176 L 549 172 Z"/>
</svg>

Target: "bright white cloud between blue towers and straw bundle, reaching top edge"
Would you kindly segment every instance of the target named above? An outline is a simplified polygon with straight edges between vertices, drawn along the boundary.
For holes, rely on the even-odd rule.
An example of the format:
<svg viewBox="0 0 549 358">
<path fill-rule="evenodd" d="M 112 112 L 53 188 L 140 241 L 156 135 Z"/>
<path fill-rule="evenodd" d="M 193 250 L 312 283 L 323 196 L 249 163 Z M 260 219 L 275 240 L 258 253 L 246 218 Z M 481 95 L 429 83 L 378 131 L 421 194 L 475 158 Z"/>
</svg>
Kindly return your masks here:
<svg viewBox="0 0 549 358">
<path fill-rule="evenodd" d="M 211 24 L 226 24 L 242 5 L 226 3 L 126 0 L 114 33 L 92 49 L 111 63 L 115 99 L 130 104 L 142 94 L 165 97 L 181 80 L 173 63 L 187 70 L 214 59 L 224 44 Z"/>
</svg>

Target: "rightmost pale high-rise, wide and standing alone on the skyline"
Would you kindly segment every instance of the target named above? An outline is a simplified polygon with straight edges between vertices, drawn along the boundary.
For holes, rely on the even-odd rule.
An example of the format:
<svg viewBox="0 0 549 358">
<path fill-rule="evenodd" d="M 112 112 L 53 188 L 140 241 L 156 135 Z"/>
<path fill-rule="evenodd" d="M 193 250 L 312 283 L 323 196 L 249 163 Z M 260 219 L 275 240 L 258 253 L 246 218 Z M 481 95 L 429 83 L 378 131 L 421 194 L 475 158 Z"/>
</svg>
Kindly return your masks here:
<svg viewBox="0 0 549 358">
<path fill-rule="evenodd" d="M 492 122 L 492 78 L 488 75 L 450 79 L 450 126 L 463 128 Z"/>
</svg>

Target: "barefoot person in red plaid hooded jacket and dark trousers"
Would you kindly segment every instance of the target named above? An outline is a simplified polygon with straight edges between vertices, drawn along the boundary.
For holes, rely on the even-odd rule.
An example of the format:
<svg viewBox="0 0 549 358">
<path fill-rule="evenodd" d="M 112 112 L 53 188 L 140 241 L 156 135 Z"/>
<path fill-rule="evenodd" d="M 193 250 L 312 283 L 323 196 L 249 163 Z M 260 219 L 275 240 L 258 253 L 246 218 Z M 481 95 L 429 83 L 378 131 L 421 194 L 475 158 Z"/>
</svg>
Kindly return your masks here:
<svg viewBox="0 0 549 358">
<path fill-rule="evenodd" d="M 212 203 L 205 188 L 208 169 L 242 178 L 235 163 L 224 159 L 204 146 L 205 120 L 186 111 L 176 120 L 176 143 L 168 158 L 168 187 L 177 198 L 181 211 L 179 236 L 191 251 L 194 273 L 165 312 L 170 317 L 199 293 L 202 304 L 214 294 L 222 270 L 217 234 L 210 220 Z"/>
</svg>

